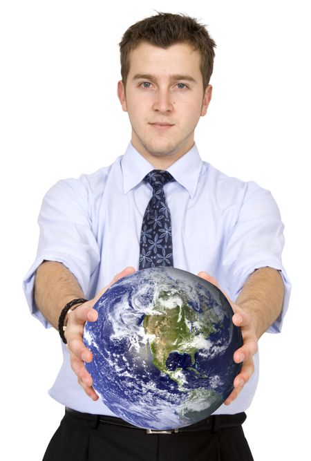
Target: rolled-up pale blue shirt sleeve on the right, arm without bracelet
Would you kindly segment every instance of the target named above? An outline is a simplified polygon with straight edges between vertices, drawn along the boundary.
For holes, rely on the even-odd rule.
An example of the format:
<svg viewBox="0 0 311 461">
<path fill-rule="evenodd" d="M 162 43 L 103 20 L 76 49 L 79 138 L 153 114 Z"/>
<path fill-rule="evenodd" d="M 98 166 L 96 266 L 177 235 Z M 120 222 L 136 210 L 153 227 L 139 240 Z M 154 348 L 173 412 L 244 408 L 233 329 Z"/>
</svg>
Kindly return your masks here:
<svg viewBox="0 0 311 461">
<path fill-rule="evenodd" d="M 272 267 L 280 271 L 285 287 L 283 308 L 268 332 L 281 332 L 290 299 L 291 284 L 281 261 L 283 229 L 279 207 L 270 191 L 248 182 L 236 223 L 225 245 L 223 269 L 234 300 L 254 270 Z"/>
</svg>

